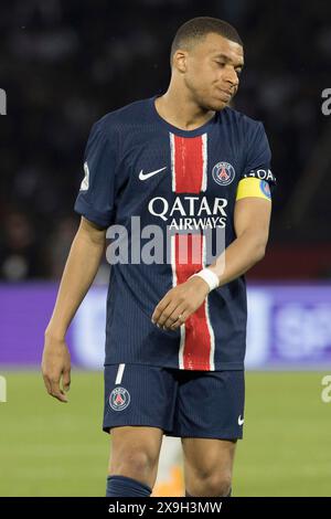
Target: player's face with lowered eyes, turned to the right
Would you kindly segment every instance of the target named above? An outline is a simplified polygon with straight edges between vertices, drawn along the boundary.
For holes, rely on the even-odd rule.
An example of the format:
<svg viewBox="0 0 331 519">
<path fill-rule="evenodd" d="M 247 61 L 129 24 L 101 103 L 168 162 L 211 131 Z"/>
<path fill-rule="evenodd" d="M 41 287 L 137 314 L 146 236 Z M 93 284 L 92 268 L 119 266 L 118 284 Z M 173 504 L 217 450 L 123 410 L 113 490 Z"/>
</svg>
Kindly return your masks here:
<svg viewBox="0 0 331 519">
<path fill-rule="evenodd" d="M 242 45 L 207 34 L 186 53 L 184 82 L 192 99 L 204 109 L 223 109 L 238 89 L 243 65 Z"/>
</svg>

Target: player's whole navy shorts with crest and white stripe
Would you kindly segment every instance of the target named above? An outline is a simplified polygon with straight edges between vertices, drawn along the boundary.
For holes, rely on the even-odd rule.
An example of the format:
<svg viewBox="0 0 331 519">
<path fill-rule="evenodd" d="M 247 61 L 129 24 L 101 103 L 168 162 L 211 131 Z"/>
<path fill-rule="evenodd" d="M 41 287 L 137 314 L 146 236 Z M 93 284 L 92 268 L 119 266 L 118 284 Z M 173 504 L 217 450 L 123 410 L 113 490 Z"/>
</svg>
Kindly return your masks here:
<svg viewBox="0 0 331 519">
<path fill-rule="evenodd" d="M 140 425 L 167 436 L 243 437 L 244 371 L 105 366 L 103 428 Z"/>
</svg>

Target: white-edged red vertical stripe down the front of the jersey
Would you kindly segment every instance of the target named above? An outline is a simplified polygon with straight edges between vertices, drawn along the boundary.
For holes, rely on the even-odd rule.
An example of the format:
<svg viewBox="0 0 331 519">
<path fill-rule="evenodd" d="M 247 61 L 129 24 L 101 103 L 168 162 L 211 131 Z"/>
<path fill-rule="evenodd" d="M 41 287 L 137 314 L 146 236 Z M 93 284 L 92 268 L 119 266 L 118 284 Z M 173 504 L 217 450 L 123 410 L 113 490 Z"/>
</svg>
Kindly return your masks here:
<svg viewBox="0 0 331 519">
<path fill-rule="evenodd" d="M 202 190 L 204 174 L 203 137 L 173 136 L 173 186 L 175 193 L 197 194 Z M 177 283 L 184 283 L 203 268 L 203 235 L 177 234 L 174 251 Z M 186 252 L 186 256 L 185 256 Z M 206 303 L 185 321 L 182 350 L 183 368 L 210 370 L 211 333 L 207 326 Z"/>
</svg>

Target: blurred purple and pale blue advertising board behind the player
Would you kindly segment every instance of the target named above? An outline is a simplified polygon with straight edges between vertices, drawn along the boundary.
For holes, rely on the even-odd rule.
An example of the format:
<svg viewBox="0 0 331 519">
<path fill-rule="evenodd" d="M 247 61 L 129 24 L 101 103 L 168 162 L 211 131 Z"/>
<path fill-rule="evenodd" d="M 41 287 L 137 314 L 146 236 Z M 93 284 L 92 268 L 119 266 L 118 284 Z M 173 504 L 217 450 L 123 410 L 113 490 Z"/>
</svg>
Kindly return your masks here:
<svg viewBox="0 0 331 519">
<path fill-rule="evenodd" d="M 0 367 L 41 362 L 43 333 L 57 285 L 0 285 Z M 87 294 L 67 333 L 72 361 L 104 362 L 105 286 Z M 247 369 L 327 369 L 331 366 L 331 285 L 248 285 Z"/>
</svg>

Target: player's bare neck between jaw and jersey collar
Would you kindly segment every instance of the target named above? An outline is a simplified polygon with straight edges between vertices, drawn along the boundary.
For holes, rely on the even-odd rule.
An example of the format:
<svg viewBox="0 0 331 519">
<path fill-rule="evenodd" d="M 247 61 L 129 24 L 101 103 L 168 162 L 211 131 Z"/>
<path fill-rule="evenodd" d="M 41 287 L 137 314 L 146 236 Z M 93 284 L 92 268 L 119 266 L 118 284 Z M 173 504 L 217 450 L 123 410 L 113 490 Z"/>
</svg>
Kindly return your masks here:
<svg viewBox="0 0 331 519">
<path fill-rule="evenodd" d="M 183 130 L 193 130 L 203 126 L 215 112 L 201 108 L 183 87 L 175 88 L 170 84 L 166 94 L 156 99 L 159 115 L 173 126 Z"/>
</svg>

